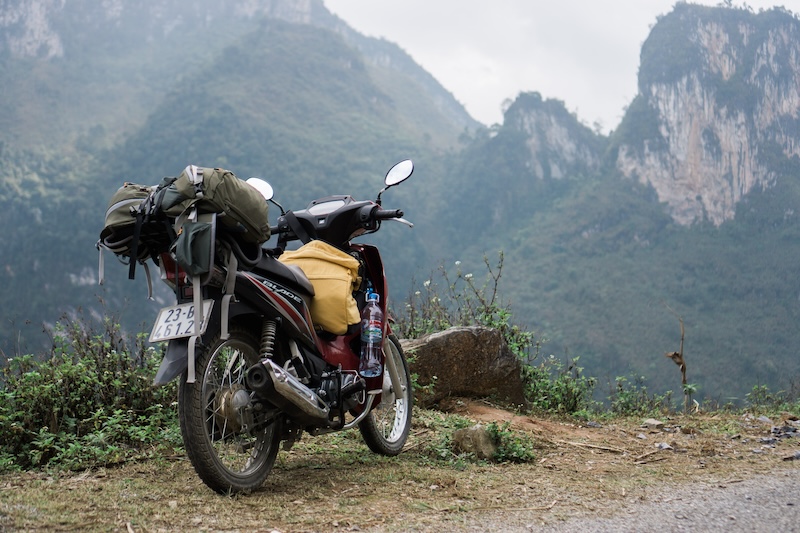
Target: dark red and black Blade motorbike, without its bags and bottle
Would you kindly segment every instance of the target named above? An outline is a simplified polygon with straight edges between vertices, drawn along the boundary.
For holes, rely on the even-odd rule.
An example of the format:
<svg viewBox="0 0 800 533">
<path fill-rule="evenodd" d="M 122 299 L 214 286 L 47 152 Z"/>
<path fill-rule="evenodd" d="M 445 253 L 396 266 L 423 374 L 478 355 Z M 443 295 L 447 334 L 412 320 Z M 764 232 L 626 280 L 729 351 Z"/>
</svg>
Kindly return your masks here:
<svg viewBox="0 0 800 533">
<path fill-rule="evenodd" d="M 217 252 L 203 279 L 182 271 L 173 253 L 157 258 L 162 280 L 176 304 L 160 310 L 150 340 L 166 351 L 154 383 L 179 378 L 178 411 L 186 453 L 202 481 L 224 494 L 259 488 L 302 434 L 358 428 L 367 446 L 399 454 L 409 435 L 412 388 L 408 363 L 391 328 L 389 287 L 378 248 L 354 243 L 385 221 L 410 227 L 398 209 L 384 209 L 381 195 L 408 179 L 410 160 L 394 165 L 374 201 L 338 195 L 286 211 L 271 185 L 247 180 L 280 208 L 270 226 L 274 247 L 241 250 L 215 224 Z M 272 238 L 270 238 L 270 241 Z M 315 326 L 310 307 L 315 291 L 304 272 L 280 256 L 294 241 L 321 240 L 357 259 L 359 308 L 377 293 L 383 312 L 382 371 L 358 372 L 360 328 L 332 334 Z M 225 243 L 228 244 L 225 244 Z M 266 243 L 266 244 L 269 244 Z M 220 246 L 235 253 L 219 253 Z"/>
</svg>

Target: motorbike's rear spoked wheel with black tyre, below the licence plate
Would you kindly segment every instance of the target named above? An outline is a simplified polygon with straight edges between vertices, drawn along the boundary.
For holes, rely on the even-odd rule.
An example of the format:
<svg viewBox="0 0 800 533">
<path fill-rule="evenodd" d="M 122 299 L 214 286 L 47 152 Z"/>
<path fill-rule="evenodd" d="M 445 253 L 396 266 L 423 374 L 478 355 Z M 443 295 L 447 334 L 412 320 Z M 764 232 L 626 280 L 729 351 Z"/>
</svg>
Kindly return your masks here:
<svg viewBox="0 0 800 533">
<path fill-rule="evenodd" d="M 184 373 L 178 397 L 186 454 L 203 482 L 221 493 L 257 489 L 266 479 L 280 444 L 279 423 L 253 409 L 245 388 L 247 369 L 258 362 L 258 342 L 232 329 L 195 360 L 195 382 Z"/>
</svg>

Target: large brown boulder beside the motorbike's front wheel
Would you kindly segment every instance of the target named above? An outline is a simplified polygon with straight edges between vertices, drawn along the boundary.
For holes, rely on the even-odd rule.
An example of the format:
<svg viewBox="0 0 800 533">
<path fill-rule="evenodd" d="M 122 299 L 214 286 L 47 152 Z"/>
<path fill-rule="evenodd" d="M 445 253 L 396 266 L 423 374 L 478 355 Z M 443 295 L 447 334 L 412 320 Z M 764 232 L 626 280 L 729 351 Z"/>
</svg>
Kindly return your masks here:
<svg viewBox="0 0 800 533">
<path fill-rule="evenodd" d="M 455 327 L 402 346 L 420 386 L 415 401 L 423 407 L 451 396 L 527 405 L 522 365 L 498 330 Z"/>
</svg>

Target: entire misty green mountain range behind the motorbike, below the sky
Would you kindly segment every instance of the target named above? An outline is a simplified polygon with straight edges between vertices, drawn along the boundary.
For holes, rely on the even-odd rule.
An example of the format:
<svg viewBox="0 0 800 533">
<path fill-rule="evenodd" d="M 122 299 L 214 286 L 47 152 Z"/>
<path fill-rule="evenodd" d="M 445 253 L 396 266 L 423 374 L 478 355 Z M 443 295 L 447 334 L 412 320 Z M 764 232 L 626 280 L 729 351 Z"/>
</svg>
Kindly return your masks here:
<svg viewBox="0 0 800 533">
<path fill-rule="evenodd" d="M 42 324 L 64 312 L 149 327 L 165 295 L 148 302 L 141 274 L 106 254 L 97 286 L 94 243 L 124 181 L 223 166 L 299 208 L 372 198 L 410 157 L 412 180 L 384 200 L 416 226 L 376 236 L 398 305 L 412 279 L 455 261 L 480 279 L 502 250 L 515 321 L 604 392 L 643 376 L 680 394 L 664 353 L 681 320 L 700 398 L 800 377 L 800 26 L 786 10 L 676 5 L 604 136 L 535 87 L 482 127 L 320 1 L 115 5 L 0 5 L 5 354 L 46 346 Z"/>
</svg>

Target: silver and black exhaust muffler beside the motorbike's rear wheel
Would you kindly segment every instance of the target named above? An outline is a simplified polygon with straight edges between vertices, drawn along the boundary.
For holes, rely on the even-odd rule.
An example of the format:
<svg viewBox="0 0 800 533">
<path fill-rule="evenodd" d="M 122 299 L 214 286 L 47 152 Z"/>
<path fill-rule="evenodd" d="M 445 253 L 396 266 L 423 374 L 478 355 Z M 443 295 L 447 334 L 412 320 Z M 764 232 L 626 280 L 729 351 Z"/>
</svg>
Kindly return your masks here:
<svg viewBox="0 0 800 533">
<path fill-rule="evenodd" d="M 280 398 L 288 400 L 306 416 L 328 421 L 330 413 L 328 404 L 300 380 L 269 359 L 264 359 L 248 368 L 245 383 L 248 389 L 255 391 L 265 400 L 274 402 L 276 398 L 273 393 L 277 393 Z M 279 404 L 278 407 L 285 408 L 286 405 Z"/>
</svg>

